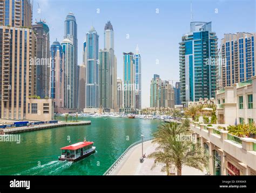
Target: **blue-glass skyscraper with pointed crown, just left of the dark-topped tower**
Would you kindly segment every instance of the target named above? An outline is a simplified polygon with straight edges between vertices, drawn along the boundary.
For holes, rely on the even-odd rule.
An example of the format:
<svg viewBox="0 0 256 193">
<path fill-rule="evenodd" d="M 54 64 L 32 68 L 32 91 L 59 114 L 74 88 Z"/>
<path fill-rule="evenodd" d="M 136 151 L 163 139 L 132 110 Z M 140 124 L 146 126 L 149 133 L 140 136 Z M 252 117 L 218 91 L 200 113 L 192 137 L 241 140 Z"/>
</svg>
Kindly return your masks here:
<svg viewBox="0 0 256 193">
<path fill-rule="evenodd" d="M 86 33 L 86 108 L 99 108 L 99 35 Z"/>
</svg>

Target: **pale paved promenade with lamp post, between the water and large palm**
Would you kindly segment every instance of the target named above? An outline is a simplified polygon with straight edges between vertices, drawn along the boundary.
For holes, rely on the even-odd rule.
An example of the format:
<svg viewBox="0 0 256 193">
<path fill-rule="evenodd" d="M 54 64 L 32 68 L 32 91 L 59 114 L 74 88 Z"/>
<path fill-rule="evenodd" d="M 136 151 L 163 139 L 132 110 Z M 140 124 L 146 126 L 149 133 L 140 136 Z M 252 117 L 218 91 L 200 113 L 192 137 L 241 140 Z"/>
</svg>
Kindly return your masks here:
<svg viewBox="0 0 256 193">
<path fill-rule="evenodd" d="M 144 142 L 143 148 L 146 156 L 156 150 L 157 145 L 152 144 L 152 141 Z M 134 146 L 129 153 L 127 153 L 123 160 L 120 161 L 116 168 L 113 169 L 110 175 L 166 175 L 161 172 L 161 165 L 157 165 L 151 170 L 154 159 L 145 158 L 143 163 L 139 162 L 142 156 L 142 144 Z M 205 175 L 198 169 L 191 167 L 184 167 L 182 169 L 183 175 Z"/>
</svg>

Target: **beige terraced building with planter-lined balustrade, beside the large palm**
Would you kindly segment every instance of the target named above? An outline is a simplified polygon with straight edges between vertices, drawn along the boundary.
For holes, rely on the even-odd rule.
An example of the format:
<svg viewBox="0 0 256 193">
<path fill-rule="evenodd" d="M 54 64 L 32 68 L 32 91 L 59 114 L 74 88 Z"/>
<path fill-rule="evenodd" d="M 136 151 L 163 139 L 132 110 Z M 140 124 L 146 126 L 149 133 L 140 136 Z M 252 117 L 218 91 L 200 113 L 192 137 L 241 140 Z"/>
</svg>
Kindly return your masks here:
<svg viewBox="0 0 256 193">
<path fill-rule="evenodd" d="M 190 124 L 194 139 L 210 156 L 206 170 L 211 175 L 256 175 L 256 140 L 236 137 L 218 126 Z"/>
</svg>

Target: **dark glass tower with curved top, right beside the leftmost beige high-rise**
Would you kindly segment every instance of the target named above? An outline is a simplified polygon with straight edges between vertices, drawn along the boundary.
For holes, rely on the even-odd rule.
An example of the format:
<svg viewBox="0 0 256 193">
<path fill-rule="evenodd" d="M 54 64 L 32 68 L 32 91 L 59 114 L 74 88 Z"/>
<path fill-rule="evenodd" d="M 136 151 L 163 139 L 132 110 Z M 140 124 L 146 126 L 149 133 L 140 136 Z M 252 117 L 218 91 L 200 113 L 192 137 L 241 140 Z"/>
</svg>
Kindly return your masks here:
<svg viewBox="0 0 256 193">
<path fill-rule="evenodd" d="M 49 97 L 50 91 L 50 35 L 49 27 L 45 22 L 36 22 L 32 25 L 36 33 L 36 95 Z"/>
</svg>

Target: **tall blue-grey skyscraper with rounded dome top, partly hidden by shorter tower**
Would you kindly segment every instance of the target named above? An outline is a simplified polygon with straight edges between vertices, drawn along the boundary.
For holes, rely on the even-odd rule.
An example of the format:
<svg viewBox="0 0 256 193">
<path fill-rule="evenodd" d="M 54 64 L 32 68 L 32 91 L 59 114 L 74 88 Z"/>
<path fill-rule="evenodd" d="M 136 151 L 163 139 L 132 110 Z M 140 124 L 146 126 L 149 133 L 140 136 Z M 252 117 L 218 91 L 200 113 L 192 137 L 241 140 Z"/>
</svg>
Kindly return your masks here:
<svg viewBox="0 0 256 193">
<path fill-rule="evenodd" d="M 79 74 L 78 74 L 78 43 L 77 43 L 77 23 L 76 17 L 73 13 L 69 13 L 66 16 L 65 23 L 64 23 L 64 39 L 69 39 L 73 45 L 73 60 L 74 60 L 74 70 L 75 76 L 73 77 L 74 80 L 74 87 L 75 91 L 72 97 L 74 97 L 74 105 L 73 108 L 77 108 L 77 101 L 78 101 L 78 81 L 79 81 Z"/>
</svg>

